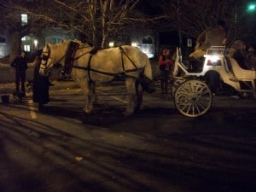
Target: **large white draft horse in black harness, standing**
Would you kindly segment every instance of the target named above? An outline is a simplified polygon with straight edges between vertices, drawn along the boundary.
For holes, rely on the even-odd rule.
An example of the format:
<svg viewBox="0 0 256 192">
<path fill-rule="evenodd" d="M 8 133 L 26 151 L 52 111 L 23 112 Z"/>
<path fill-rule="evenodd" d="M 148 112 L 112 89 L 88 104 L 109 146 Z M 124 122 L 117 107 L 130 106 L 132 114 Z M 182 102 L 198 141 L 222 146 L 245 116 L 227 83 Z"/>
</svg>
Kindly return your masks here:
<svg viewBox="0 0 256 192">
<path fill-rule="evenodd" d="M 154 91 L 148 56 L 129 45 L 96 50 L 89 44 L 67 40 L 61 44 L 47 44 L 42 56 L 39 70 L 41 75 L 48 75 L 49 70 L 58 63 L 82 88 L 87 97 L 84 113 L 91 113 L 93 110 L 96 102 L 96 83 L 111 82 L 115 79 L 125 80 L 128 92 L 125 115 L 131 115 L 135 109 L 140 108 L 143 90 L 151 86 L 147 91 Z"/>
</svg>

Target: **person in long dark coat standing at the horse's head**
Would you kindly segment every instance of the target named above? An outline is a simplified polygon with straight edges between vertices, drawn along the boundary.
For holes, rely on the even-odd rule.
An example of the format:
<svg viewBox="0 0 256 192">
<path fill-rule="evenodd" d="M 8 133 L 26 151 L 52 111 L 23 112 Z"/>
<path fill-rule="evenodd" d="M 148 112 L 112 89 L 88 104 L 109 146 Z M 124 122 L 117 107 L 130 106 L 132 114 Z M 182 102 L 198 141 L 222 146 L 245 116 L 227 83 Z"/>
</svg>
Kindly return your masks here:
<svg viewBox="0 0 256 192">
<path fill-rule="evenodd" d="M 39 74 L 41 63 L 42 49 L 38 51 L 38 55 L 34 61 L 32 100 L 38 102 L 38 109 L 44 109 L 44 104 L 49 102 L 49 77 Z"/>
</svg>

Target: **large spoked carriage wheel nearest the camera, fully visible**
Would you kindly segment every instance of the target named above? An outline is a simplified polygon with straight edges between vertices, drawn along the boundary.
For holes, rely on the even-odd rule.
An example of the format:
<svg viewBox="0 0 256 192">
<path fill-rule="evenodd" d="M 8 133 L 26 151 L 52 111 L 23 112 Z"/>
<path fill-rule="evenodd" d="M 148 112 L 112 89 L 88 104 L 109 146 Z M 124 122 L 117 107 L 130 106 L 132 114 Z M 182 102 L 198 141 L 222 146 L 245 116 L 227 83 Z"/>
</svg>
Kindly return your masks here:
<svg viewBox="0 0 256 192">
<path fill-rule="evenodd" d="M 199 117 L 212 106 L 212 92 L 200 80 L 188 80 L 180 84 L 174 98 L 177 110 L 188 117 Z"/>
</svg>

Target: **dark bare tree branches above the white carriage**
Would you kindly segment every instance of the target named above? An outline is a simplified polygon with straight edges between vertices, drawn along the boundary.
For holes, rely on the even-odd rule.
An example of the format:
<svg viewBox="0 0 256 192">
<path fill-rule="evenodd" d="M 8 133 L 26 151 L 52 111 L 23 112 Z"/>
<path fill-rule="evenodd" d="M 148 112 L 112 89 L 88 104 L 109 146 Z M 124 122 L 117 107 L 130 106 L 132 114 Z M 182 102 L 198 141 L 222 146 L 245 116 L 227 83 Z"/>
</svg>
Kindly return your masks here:
<svg viewBox="0 0 256 192">
<path fill-rule="evenodd" d="M 239 37 L 245 31 L 244 15 L 238 12 L 236 0 L 201 1 L 201 0 L 160 0 L 160 6 L 166 15 L 166 29 L 173 29 L 183 35 L 197 38 L 207 27 L 216 20 L 225 20 L 229 42 Z M 236 17 L 240 15 L 240 17 Z"/>
</svg>

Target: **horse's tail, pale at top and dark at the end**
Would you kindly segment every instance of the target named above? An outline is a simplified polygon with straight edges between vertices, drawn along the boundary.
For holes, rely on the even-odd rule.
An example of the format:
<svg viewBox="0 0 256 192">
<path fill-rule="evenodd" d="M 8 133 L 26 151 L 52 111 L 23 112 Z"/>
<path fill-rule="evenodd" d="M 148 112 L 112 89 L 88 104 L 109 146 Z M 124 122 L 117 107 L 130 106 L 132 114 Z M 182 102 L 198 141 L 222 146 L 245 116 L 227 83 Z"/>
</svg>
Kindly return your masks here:
<svg viewBox="0 0 256 192">
<path fill-rule="evenodd" d="M 141 84 L 143 86 L 143 90 L 146 90 L 148 93 L 154 92 L 155 84 L 153 81 L 152 67 L 147 55 L 145 55 L 145 67 L 141 77 Z"/>
</svg>

